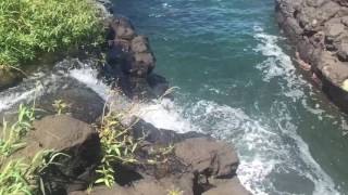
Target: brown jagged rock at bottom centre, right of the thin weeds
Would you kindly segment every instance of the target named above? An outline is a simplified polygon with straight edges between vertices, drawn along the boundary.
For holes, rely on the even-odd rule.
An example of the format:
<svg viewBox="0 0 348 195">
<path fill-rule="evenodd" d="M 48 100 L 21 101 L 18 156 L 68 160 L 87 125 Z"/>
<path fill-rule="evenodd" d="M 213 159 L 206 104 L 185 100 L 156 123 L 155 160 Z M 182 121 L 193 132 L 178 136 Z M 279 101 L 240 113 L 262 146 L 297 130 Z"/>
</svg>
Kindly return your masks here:
<svg viewBox="0 0 348 195">
<path fill-rule="evenodd" d="M 162 133 L 164 136 L 166 133 L 172 133 L 166 130 L 162 131 L 164 131 Z M 138 172 L 141 177 L 127 185 L 115 184 L 111 188 L 95 187 L 90 194 L 167 195 L 170 191 L 179 192 L 183 195 L 250 194 L 236 176 L 239 160 L 231 145 L 203 134 L 192 139 L 185 139 L 190 136 L 187 134 L 176 134 L 176 136 L 182 136 L 183 140 L 174 144 L 175 152 L 167 157 L 166 164 L 171 167 L 164 169 L 160 165 L 152 165 L 152 168 L 142 165 L 142 169 L 138 169 L 136 166 L 130 167 L 129 169 Z M 142 147 L 156 146 L 154 142 L 142 145 Z M 174 160 L 177 161 L 172 164 Z M 149 171 L 150 169 L 153 171 Z M 162 173 L 158 174 L 158 172 Z M 70 195 L 86 195 L 86 192 L 71 192 Z"/>
</svg>

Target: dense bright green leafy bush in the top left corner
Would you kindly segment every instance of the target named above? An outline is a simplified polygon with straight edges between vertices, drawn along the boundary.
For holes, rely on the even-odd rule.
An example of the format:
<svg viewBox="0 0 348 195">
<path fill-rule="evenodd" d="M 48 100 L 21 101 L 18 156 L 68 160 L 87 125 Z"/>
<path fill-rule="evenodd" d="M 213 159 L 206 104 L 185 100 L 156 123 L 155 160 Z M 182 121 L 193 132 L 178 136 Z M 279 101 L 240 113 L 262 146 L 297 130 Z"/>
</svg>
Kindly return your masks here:
<svg viewBox="0 0 348 195">
<path fill-rule="evenodd" d="M 0 69 L 18 69 L 42 52 L 98 46 L 99 12 L 90 0 L 1 0 Z"/>
</svg>

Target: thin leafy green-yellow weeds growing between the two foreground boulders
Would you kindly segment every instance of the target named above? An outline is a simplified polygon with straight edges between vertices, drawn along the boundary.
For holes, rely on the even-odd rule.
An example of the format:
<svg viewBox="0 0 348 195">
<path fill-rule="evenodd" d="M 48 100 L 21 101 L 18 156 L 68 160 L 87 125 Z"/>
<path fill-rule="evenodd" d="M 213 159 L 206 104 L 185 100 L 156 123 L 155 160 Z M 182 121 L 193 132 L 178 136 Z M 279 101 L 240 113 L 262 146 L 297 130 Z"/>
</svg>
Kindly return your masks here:
<svg viewBox="0 0 348 195">
<path fill-rule="evenodd" d="M 128 110 L 132 113 L 132 109 Z M 165 164 L 169 156 L 173 153 L 174 146 L 161 146 L 158 148 L 149 148 L 147 157 L 140 158 L 138 153 L 141 150 L 142 138 L 134 138 L 132 134 L 132 126 L 137 123 L 136 120 L 130 127 L 125 128 L 121 120 L 129 114 L 109 113 L 103 116 L 100 127 L 97 127 L 102 159 L 97 168 L 98 179 L 94 184 L 103 184 L 112 187 L 115 184 L 116 165 L 151 165 Z M 92 187 L 92 186 L 91 186 Z M 176 191 L 172 191 L 176 192 Z M 179 194 L 178 194 L 179 195 Z"/>
</svg>

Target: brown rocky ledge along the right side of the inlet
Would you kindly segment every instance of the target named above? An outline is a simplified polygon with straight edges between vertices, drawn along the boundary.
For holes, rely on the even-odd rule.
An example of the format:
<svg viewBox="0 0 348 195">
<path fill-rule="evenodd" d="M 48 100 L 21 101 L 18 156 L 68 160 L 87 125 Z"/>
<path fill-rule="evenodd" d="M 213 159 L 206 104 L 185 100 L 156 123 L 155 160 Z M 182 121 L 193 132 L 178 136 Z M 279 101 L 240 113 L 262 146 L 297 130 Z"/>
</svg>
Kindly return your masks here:
<svg viewBox="0 0 348 195">
<path fill-rule="evenodd" d="M 299 66 L 347 113 L 348 1 L 276 0 L 276 14 Z"/>
</svg>

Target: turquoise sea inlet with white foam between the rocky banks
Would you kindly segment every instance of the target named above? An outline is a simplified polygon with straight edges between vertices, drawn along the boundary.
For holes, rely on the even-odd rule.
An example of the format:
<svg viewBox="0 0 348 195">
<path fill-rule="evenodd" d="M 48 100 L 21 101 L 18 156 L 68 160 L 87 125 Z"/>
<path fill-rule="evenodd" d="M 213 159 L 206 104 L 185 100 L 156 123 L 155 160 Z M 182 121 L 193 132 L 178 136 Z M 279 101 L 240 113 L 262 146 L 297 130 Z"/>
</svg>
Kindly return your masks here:
<svg viewBox="0 0 348 195">
<path fill-rule="evenodd" d="M 348 194 L 347 117 L 295 68 L 273 0 L 117 0 L 176 90 L 146 119 L 235 145 L 254 194 Z"/>
</svg>

